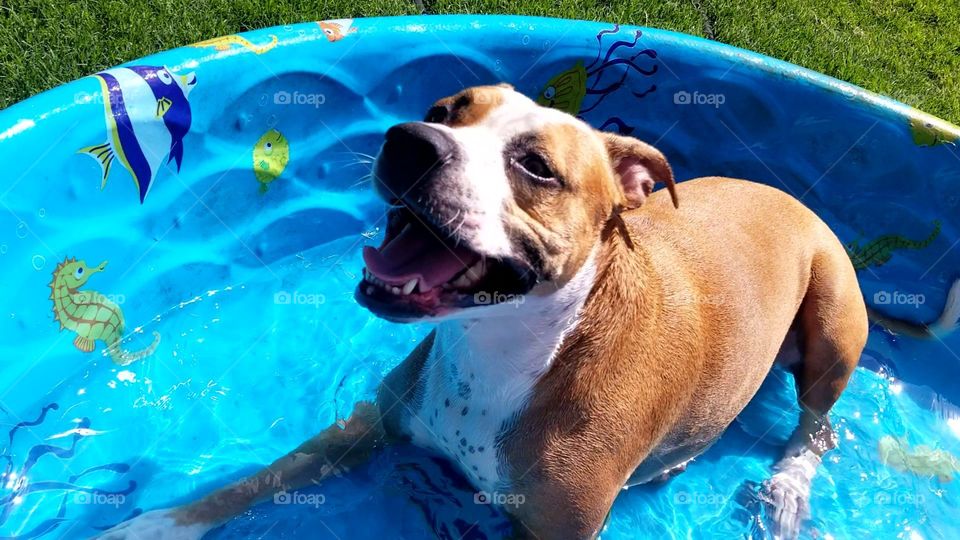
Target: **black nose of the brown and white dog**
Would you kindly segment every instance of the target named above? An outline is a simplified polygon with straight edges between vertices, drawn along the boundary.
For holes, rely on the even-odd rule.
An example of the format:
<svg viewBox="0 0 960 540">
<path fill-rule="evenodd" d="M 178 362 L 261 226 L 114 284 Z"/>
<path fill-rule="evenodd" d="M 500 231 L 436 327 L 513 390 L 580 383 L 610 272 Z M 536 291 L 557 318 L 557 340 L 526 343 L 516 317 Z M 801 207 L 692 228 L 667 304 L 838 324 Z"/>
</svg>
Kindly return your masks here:
<svg viewBox="0 0 960 540">
<path fill-rule="evenodd" d="M 455 149 L 453 138 L 436 127 L 397 124 L 387 130 L 375 172 L 395 197 L 402 197 L 448 163 Z"/>
</svg>

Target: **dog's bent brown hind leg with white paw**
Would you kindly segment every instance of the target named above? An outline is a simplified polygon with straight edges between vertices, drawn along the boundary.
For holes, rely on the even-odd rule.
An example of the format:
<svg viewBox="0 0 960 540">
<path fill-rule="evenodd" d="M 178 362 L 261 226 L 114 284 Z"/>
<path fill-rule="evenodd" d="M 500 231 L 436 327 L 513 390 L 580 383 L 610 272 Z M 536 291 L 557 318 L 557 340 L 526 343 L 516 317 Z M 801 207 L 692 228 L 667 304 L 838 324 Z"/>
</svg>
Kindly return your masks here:
<svg viewBox="0 0 960 540">
<path fill-rule="evenodd" d="M 810 485 L 820 459 L 836 446 L 828 414 L 846 388 L 867 340 L 867 313 L 856 274 L 837 247 L 814 257 L 807 293 L 797 313 L 800 361 L 790 369 L 796 379 L 800 423 L 761 495 L 775 538 L 795 538 L 809 515 Z"/>
</svg>

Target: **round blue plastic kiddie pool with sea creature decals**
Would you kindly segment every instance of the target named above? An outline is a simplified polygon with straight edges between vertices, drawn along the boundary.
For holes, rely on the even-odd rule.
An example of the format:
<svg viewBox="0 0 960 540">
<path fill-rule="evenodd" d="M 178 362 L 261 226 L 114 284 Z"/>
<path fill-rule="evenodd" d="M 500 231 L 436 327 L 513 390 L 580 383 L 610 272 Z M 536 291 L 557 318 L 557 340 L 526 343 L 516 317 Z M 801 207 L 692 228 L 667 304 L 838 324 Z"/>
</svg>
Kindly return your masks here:
<svg viewBox="0 0 960 540">
<path fill-rule="evenodd" d="M 353 300 L 391 124 L 508 81 L 658 146 L 677 178 L 799 197 L 868 302 L 935 319 L 960 272 L 960 129 L 808 70 L 654 29 L 525 17 L 335 20 L 226 36 L 0 112 L 0 537 L 89 536 L 343 419 L 428 330 Z M 67 324 L 65 291 L 98 304 Z M 73 310 L 73 315 L 76 315 Z M 119 340 L 119 341 L 118 341 Z M 960 340 L 871 333 L 805 537 L 956 538 Z M 624 491 L 604 538 L 762 531 L 788 379 L 688 470 Z M 397 447 L 215 538 L 499 538 L 451 466 Z M 482 501 L 480 501 L 482 502 Z"/>
</svg>

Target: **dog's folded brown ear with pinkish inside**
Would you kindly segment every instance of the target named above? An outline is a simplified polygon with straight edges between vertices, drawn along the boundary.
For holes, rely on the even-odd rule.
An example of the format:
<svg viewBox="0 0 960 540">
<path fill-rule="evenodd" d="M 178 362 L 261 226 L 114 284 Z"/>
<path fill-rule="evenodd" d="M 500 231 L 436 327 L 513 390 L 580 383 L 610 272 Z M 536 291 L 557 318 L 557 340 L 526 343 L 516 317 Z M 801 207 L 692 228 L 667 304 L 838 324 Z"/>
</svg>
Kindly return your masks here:
<svg viewBox="0 0 960 540">
<path fill-rule="evenodd" d="M 673 171 L 667 158 L 649 144 L 609 132 L 600 132 L 610 155 L 613 175 L 620 181 L 625 208 L 637 208 L 653 192 L 653 186 L 662 182 L 670 192 L 674 208 L 680 207 Z"/>
</svg>

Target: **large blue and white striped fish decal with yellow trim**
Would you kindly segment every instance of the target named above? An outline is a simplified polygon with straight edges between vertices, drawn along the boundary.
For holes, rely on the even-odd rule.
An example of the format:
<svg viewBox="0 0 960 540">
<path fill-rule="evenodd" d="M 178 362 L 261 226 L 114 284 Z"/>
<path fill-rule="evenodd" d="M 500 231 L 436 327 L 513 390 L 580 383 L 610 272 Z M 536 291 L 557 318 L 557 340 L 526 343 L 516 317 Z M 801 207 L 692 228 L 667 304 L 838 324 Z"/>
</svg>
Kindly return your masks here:
<svg viewBox="0 0 960 540">
<path fill-rule="evenodd" d="M 193 73 L 175 75 L 162 66 L 129 66 L 94 75 L 103 91 L 107 142 L 79 150 L 100 164 L 103 178 L 119 161 L 137 185 L 140 203 L 165 164 L 183 163 L 183 138 L 190 131 L 187 96 L 197 84 Z M 166 159 L 166 163 L 164 163 Z"/>
</svg>

